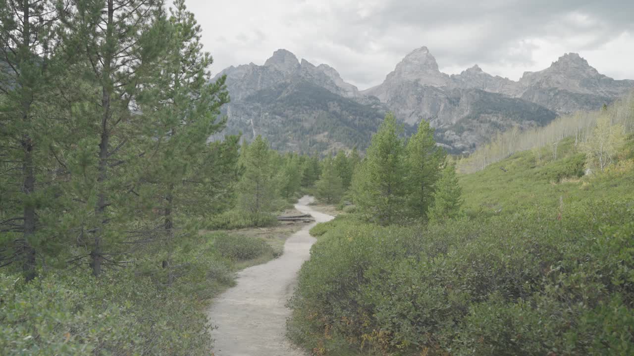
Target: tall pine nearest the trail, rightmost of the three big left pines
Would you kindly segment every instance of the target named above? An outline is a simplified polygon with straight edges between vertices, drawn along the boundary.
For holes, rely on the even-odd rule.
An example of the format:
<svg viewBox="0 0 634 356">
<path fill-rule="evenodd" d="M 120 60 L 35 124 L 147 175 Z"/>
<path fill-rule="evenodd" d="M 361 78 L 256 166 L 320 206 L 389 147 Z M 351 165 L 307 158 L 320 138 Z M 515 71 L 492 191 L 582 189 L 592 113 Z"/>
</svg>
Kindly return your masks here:
<svg viewBox="0 0 634 356">
<path fill-rule="evenodd" d="M 138 95 L 143 113 L 151 113 L 153 118 L 153 125 L 148 127 L 145 135 L 149 137 L 146 143 L 148 158 L 142 162 L 146 167 L 141 181 L 150 183 L 150 187 L 143 191 L 148 194 L 146 199 L 156 201 L 152 212 L 162 212 L 160 227 L 164 229 L 165 237 L 159 241 L 165 251 L 164 268 L 171 266 L 171 255 L 176 246 L 196 234 L 195 225 L 189 230 L 184 229 L 184 221 L 205 215 L 210 208 L 205 200 L 218 198 L 197 193 L 228 189 L 233 184 L 231 177 L 220 178 L 227 174 L 227 169 L 230 175 L 235 171 L 233 167 L 227 167 L 224 157 L 219 161 L 209 160 L 213 153 L 207 144 L 207 139 L 223 130 L 226 123 L 226 118 L 218 118 L 219 108 L 229 102 L 225 77 L 210 82 L 207 68 L 212 58 L 202 51 L 200 25 L 193 13 L 186 9 L 184 0 L 174 1 L 170 11 L 170 41 L 157 61 L 159 70 L 153 72 L 157 77 Z M 234 141 L 230 139 L 227 144 L 236 149 Z M 217 151 L 223 149 L 222 145 L 212 146 Z M 214 172 L 213 181 L 205 180 L 204 174 L 209 171 Z M 185 211 L 188 212 L 186 215 L 183 214 Z M 149 227 L 148 234 L 155 235 L 156 227 Z M 173 274 L 169 270 L 167 283 L 172 281 Z"/>
</svg>

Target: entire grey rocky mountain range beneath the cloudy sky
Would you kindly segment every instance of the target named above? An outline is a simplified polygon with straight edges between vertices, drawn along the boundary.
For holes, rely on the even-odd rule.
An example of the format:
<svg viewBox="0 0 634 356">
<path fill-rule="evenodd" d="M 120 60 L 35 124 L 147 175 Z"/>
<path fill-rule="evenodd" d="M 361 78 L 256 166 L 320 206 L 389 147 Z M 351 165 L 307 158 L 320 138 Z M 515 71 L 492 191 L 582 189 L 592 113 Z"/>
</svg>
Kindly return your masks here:
<svg viewBox="0 0 634 356">
<path fill-rule="evenodd" d="M 385 112 L 405 134 L 420 120 L 436 128 L 451 153 L 469 153 L 496 132 L 548 124 L 558 115 L 596 110 L 634 89 L 634 80 L 597 72 L 567 53 L 545 70 L 518 81 L 490 75 L 477 65 L 457 75 L 439 70 L 426 47 L 415 49 L 378 86 L 359 91 L 334 68 L 297 60 L 278 49 L 264 65 L 228 67 L 228 131 L 267 137 L 283 151 L 324 153 L 366 148 Z"/>
</svg>

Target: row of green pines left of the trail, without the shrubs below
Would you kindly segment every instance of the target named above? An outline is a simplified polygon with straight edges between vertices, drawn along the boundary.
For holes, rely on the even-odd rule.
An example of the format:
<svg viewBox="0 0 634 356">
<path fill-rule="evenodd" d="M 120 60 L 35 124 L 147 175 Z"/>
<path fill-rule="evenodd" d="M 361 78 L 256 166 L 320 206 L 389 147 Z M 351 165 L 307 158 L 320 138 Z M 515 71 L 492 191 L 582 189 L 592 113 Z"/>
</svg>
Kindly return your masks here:
<svg viewBox="0 0 634 356">
<path fill-rule="evenodd" d="M 143 253 L 172 283 L 174 246 L 205 224 L 271 222 L 319 177 L 318 158 L 262 137 L 209 141 L 230 96 L 184 0 L 0 9 L 0 266 L 27 281 Z"/>
</svg>

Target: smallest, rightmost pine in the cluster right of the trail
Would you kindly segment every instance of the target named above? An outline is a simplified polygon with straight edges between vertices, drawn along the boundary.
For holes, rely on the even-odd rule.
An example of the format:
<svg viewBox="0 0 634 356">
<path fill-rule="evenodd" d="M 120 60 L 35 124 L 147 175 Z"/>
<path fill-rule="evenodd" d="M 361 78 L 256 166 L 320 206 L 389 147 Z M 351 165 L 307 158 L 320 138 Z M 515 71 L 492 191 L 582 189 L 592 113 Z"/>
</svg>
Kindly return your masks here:
<svg viewBox="0 0 634 356">
<path fill-rule="evenodd" d="M 430 221 L 443 221 L 459 217 L 462 207 L 462 188 L 458 183 L 456 167 L 447 164 L 436 183 L 436 191 L 433 194 L 434 205 L 429 209 Z"/>
</svg>

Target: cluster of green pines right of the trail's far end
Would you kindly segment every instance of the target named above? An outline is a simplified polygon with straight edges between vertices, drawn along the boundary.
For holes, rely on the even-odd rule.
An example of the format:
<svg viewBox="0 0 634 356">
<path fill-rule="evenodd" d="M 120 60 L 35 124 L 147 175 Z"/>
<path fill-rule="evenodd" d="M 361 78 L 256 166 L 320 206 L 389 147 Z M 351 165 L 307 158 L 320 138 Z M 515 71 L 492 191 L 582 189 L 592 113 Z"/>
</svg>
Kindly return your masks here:
<svg viewBox="0 0 634 356">
<path fill-rule="evenodd" d="M 462 191 L 455 166 L 422 120 L 406 139 L 391 113 L 372 136 L 365 158 L 339 151 L 322 162 L 316 196 L 327 203 L 354 203 L 356 215 L 380 225 L 457 217 Z"/>
</svg>

